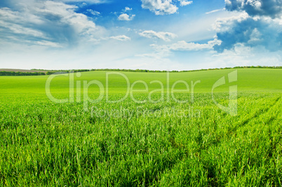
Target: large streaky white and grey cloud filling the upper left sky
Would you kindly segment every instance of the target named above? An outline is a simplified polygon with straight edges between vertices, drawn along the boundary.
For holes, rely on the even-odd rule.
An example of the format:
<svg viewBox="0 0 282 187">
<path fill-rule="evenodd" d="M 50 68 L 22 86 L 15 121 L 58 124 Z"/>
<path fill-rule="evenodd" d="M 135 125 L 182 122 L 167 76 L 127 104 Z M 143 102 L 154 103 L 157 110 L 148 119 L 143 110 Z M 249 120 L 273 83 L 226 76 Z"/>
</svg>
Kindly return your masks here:
<svg viewBox="0 0 282 187">
<path fill-rule="evenodd" d="M 81 37 L 98 41 L 102 34 L 102 27 L 75 12 L 76 6 L 57 1 L 17 2 L 13 8 L 0 8 L 2 40 L 61 47 L 78 43 Z"/>
</svg>

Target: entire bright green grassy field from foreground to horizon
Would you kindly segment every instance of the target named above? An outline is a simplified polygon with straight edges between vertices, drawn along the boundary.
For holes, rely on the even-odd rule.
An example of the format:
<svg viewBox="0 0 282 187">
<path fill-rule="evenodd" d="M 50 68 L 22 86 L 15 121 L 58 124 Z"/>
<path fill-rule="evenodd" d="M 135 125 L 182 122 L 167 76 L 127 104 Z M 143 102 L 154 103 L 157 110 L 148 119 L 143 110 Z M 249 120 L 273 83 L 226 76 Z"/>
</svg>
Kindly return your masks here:
<svg viewBox="0 0 282 187">
<path fill-rule="evenodd" d="M 0 185 L 281 186 L 282 69 L 234 70 L 1 76 Z"/>
</svg>

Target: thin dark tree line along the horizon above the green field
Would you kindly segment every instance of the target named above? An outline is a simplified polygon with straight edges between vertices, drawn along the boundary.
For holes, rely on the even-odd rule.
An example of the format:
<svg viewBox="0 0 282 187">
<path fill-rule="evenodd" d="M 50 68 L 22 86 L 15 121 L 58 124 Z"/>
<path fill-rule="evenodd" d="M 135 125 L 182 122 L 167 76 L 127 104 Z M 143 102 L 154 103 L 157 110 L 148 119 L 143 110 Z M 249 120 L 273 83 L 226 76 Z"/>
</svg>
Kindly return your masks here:
<svg viewBox="0 0 282 187">
<path fill-rule="evenodd" d="M 266 66 L 245 66 L 245 67 L 224 67 L 213 69 L 196 69 L 196 70 L 183 70 L 183 71 L 170 71 L 170 72 L 190 72 L 190 71 L 209 71 L 218 69 L 246 69 L 246 68 L 264 68 L 264 69 L 282 69 L 282 67 L 266 67 Z M 0 71 L 0 76 L 44 76 L 51 74 L 68 74 L 85 71 L 130 71 L 130 72 L 155 72 L 161 73 L 166 71 L 161 70 L 147 70 L 147 69 L 74 69 L 74 70 L 46 70 L 46 69 L 32 69 L 34 71 L 46 71 L 44 72 L 15 72 L 15 71 Z"/>
</svg>

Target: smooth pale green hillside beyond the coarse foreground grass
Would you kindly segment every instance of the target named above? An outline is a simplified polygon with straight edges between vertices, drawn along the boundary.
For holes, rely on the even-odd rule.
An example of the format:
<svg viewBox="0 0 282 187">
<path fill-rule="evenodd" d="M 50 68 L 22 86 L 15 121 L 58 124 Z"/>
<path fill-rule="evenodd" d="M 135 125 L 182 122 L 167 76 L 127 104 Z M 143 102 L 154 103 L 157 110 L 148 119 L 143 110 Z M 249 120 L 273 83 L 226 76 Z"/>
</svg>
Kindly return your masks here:
<svg viewBox="0 0 282 187">
<path fill-rule="evenodd" d="M 234 83 L 228 83 L 228 74 L 232 71 L 238 71 L 237 81 Z M 88 71 L 82 72 L 80 77 L 74 74 L 74 88 L 76 88 L 76 81 L 80 81 L 83 85 L 83 81 L 97 80 L 106 86 L 106 72 L 112 72 L 109 75 L 109 91 L 110 92 L 124 92 L 126 91 L 126 79 L 121 75 L 117 75 L 118 71 Z M 167 76 L 165 72 L 130 72 L 120 71 L 121 74 L 126 76 L 130 82 L 130 86 L 135 81 L 145 81 L 149 90 L 160 89 L 159 83 L 150 83 L 151 81 L 161 81 L 163 89 L 167 90 Z M 214 91 L 228 91 L 229 85 L 238 85 L 238 90 L 249 91 L 262 91 L 262 92 L 282 92 L 282 69 L 220 69 L 210 71 L 192 71 L 192 72 L 170 72 L 169 74 L 169 88 L 172 88 L 176 81 L 185 81 L 188 83 L 190 92 L 192 82 L 196 83 L 194 86 L 194 92 L 210 92 L 213 88 L 213 84 L 219 79 L 225 76 L 227 84 L 221 85 Z M 45 83 L 48 76 L 1 76 L 0 88 L 1 92 L 45 92 Z M 201 83 L 199 83 L 201 81 Z M 69 89 L 69 77 L 66 75 L 57 75 L 51 82 L 51 88 L 55 92 L 65 92 Z M 134 89 L 144 90 L 145 85 L 142 83 L 136 83 Z M 99 92 L 98 87 L 90 86 L 89 88 L 93 92 Z M 177 83 L 175 89 L 186 89 L 184 83 Z"/>
</svg>

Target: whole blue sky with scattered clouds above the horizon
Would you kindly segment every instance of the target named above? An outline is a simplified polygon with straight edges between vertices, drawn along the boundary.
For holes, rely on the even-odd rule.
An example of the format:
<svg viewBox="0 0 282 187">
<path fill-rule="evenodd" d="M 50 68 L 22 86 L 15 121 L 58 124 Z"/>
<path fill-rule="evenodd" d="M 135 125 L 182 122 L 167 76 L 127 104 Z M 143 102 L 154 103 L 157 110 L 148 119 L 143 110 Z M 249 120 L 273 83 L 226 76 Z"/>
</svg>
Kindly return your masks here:
<svg viewBox="0 0 282 187">
<path fill-rule="evenodd" d="M 0 68 L 282 66 L 281 0 L 1 0 Z"/>
</svg>

